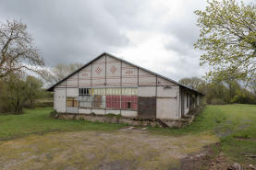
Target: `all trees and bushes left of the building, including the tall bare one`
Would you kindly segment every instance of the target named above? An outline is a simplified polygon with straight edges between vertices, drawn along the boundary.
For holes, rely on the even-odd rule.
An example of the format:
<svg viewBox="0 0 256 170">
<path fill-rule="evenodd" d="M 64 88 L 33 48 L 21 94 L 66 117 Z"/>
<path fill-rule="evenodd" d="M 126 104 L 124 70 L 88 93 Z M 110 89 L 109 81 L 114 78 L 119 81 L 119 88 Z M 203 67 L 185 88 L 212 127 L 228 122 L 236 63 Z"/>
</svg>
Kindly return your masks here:
<svg viewBox="0 0 256 170">
<path fill-rule="evenodd" d="M 0 23 L 0 113 L 19 115 L 24 113 L 24 108 L 49 107 L 39 101 L 54 98 L 45 87 L 54 85 L 81 66 L 81 63 L 57 64 L 48 69 L 32 41 L 27 25 L 21 20 Z M 49 104 L 53 106 L 53 101 Z"/>
</svg>

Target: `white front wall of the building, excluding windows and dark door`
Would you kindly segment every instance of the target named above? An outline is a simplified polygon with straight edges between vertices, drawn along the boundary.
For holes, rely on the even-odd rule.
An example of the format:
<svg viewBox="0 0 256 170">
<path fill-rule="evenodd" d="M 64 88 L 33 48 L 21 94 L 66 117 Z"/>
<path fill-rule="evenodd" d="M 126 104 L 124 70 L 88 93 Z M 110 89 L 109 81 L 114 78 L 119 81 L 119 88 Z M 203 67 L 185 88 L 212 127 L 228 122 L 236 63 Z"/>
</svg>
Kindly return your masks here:
<svg viewBox="0 0 256 170">
<path fill-rule="evenodd" d="M 179 90 L 179 85 L 158 77 L 138 67 L 126 62 L 121 62 L 115 58 L 104 55 L 96 61 L 81 69 L 78 73 L 67 78 L 67 83 L 60 84 L 62 90 L 57 90 L 55 86 L 55 108 L 59 112 L 70 112 L 80 114 L 108 113 L 120 114 L 124 117 L 136 117 L 135 109 L 110 109 L 110 108 L 79 108 L 66 107 L 67 97 L 79 99 L 79 87 L 138 87 L 138 96 L 156 97 L 156 118 L 158 119 L 179 119 L 181 107 L 184 107 L 185 114 L 189 112 L 187 108 L 187 95 L 184 94 L 184 106 L 180 106 L 180 95 L 184 91 Z"/>
</svg>

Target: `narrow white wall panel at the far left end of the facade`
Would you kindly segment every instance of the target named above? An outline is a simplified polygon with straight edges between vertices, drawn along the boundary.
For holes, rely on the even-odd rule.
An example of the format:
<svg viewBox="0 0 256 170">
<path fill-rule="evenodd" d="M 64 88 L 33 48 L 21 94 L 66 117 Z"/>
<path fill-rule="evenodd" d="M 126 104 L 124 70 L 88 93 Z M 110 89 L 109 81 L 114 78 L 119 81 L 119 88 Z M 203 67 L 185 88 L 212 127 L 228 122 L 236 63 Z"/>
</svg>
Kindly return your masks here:
<svg viewBox="0 0 256 170">
<path fill-rule="evenodd" d="M 66 88 L 55 88 L 54 108 L 57 112 L 66 112 Z"/>
</svg>

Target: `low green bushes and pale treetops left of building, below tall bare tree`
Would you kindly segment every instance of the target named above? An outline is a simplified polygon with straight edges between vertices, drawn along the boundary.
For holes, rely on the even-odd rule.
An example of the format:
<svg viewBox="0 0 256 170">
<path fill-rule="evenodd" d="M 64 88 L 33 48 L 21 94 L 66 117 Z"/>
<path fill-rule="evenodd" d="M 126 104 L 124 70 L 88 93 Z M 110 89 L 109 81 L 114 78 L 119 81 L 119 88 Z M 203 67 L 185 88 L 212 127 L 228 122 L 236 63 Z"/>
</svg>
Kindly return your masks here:
<svg viewBox="0 0 256 170">
<path fill-rule="evenodd" d="M 9 74 L 0 79 L 0 113 L 10 113 L 20 115 L 24 113 L 24 108 L 44 107 L 45 102 L 53 99 L 52 92 L 46 92 L 46 87 L 55 85 L 68 74 L 75 72 L 82 66 L 82 63 L 57 64 L 44 72 L 42 78 L 22 74 Z M 46 106 L 53 106 L 47 104 Z"/>
</svg>

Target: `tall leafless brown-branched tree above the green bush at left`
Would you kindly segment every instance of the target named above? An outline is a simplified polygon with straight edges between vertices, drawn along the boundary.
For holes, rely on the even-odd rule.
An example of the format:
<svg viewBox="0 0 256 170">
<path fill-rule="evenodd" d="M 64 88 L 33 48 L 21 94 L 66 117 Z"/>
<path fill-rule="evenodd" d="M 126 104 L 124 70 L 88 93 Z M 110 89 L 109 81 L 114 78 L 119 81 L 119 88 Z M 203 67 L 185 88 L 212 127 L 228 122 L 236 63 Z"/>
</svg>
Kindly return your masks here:
<svg viewBox="0 0 256 170">
<path fill-rule="evenodd" d="M 22 71 L 42 74 L 44 62 L 40 51 L 33 47 L 32 36 L 21 20 L 0 24 L 0 79 Z"/>
</svg>

